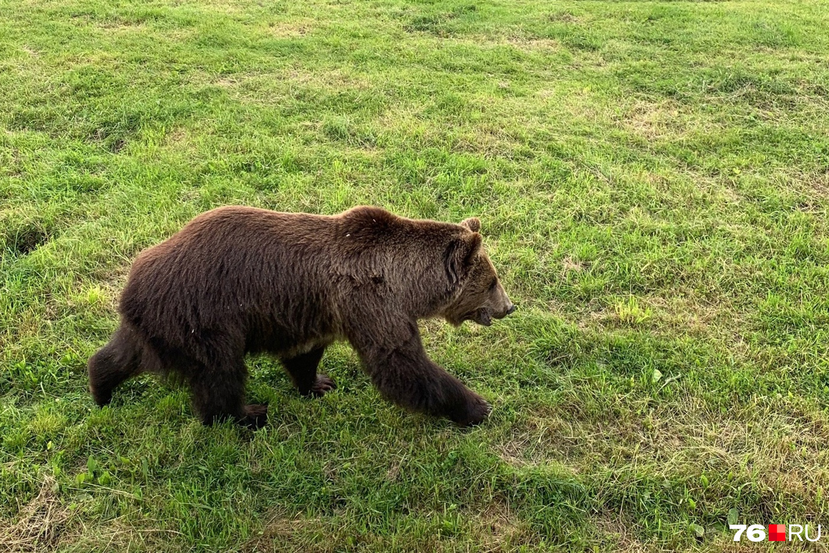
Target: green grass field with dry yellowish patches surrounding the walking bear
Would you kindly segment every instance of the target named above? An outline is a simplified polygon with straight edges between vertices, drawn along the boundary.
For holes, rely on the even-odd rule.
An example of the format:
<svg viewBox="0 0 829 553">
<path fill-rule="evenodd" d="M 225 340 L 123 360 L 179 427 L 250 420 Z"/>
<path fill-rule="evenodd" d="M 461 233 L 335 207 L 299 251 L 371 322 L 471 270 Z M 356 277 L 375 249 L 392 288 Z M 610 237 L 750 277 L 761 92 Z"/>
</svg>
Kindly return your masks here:
<svg viewBox="0 0 829 553">
<path fill-rule="evenodd" d="M 827 59 L 818 0 L 0 0 L 0 551 L 829 533 Z M 482 219 L 520 311 L 422 327 L 486 424 L 385 403 L 345 345 L 322 400 L 251 358 L 256 433 L 151 376 L 95 408 L 140 250 L 360 203 Z"/>
</svg>

